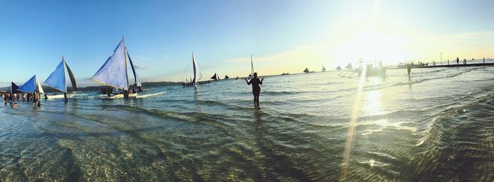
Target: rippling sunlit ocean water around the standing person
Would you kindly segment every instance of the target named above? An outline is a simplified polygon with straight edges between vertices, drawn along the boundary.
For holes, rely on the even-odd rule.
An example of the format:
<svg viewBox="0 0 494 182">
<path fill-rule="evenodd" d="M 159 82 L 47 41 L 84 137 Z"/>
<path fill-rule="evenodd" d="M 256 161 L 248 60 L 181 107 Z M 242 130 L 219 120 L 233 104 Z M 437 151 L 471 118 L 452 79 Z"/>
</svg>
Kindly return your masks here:
<svg viewBox="0 0 494 182">
<path fill-rule="evenodd" d="M 0 181 L 494 181 L 494 67 L 338 73 L 1 104 Z"/>
</svg>

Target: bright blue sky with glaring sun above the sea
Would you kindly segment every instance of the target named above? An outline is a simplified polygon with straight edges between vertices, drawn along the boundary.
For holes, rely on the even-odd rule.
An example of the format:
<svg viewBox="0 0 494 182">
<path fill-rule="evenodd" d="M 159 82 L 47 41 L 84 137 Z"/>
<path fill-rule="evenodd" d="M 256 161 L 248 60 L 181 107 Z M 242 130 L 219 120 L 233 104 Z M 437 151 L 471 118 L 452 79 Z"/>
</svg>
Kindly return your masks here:
<svg viewBox="0 0 494 182">
<path fill-rule="evenodd" d="M 46 79 L 64 56 L 79 85 L 122 36 L 143 81 L 320 71 L 347 63 L 494 58 L 494 1 L 4 1 L 0 87 Z M 442 54 L 441 54 L 442 53 Z M 355 66 L 354 66 L 355 67 Z"/>
</svg>

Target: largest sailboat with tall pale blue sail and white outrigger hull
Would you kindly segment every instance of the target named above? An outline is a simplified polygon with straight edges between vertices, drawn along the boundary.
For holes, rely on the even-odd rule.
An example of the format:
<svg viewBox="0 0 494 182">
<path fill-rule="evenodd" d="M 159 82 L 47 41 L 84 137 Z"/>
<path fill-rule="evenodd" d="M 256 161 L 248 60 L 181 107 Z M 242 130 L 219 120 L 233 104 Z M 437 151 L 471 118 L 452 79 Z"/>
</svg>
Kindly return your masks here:
<svg viewBox="0 0 494 182">
<path fill-rule="evenodd" d="M 107 85 L 110 87 L 114 87 L 115 89 L 122 91 L 129 91 L 128 84 L 128 71 L 127 71 L 127 59 L 131 64 L 132 73 L 134 75 L 134 84 L 133 87 L 138 87 L 137 92 L 128 93 L 128 97 L 149 97 L 152 95 L 160 95 L 164 92 L 158 92 L 155 94 L 148 95 L 139 95 L 138 92 L 142 92 L 143 85 L 140 83 L 137 73 L 135 72 L 135 67 L 132 63 L 131 56 L 128 54 L 127 47 L 125 46 L 125 40 L 122 37 L 122 40 L 116 46 L 113 51 L 112 56 L 109 56 L 107 61 L 104 62 L 103 66 L 101 66 L 100 70 L 98 70 L 95 75 L 92 76 L 91 80 L 101 83 L 102 85 Z M 117 93 L 114 95 L 100 95 L 102 98 L 108 99 L 119 99 L 123 98 L 125 95 L 122 93 Z"/>
</svg>

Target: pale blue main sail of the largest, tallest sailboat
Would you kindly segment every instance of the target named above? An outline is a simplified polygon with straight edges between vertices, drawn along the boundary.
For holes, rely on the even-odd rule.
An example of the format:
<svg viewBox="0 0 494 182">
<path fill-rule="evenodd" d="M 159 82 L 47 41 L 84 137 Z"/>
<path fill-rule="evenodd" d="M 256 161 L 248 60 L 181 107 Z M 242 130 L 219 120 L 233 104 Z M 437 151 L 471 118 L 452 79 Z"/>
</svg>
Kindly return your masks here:
<svg viewBox="0 0 494 182">
<path fill-rule="evenodd" d="M 127 78 L 127 66 L 125 59 L 125 47 L 123 45 L 123 39 L 119 45 L 113 51 L 100 70 L 92 76 L 91 80 L 102 83 L 103 85 L 109 85 L 112 87 L 121 88 L 122 90 L 128 90 L 128 78 Z"/>
</svg>

